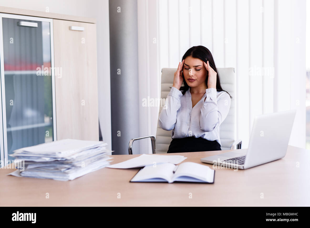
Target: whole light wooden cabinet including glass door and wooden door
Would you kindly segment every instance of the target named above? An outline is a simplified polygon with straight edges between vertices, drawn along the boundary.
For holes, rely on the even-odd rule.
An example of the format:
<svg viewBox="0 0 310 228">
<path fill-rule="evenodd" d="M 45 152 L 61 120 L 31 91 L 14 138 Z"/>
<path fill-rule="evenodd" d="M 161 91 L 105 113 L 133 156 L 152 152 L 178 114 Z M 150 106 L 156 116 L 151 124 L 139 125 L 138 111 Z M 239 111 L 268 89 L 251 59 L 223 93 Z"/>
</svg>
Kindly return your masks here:
<svg viewBox="0 0 310 228">
<path fill-rule="evenodd" d="M 53 140 L 99 140 L 95 19 L 0 7 L 0 76 L 0 161 Z"/>
</svg>

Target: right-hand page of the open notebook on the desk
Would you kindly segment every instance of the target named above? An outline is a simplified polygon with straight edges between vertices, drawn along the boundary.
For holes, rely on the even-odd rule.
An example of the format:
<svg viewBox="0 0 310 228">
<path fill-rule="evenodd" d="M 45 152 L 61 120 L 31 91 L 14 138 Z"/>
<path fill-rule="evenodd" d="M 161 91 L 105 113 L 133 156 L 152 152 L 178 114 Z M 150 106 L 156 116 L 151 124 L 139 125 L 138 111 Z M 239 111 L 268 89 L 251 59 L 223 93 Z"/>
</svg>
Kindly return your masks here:
<svg viewBox="0 0 310 228">
<path fill-rule="evenodd" d="M 205 182 L 213 182 L 214 170 L 210 169 L 208 166 L 201 165 L 194 162 L 184 162 L 179 164 L 178 169 L 175 171 L 173 180 L 177 181 L 178 177 L 193 177 Z"/>
</svg>

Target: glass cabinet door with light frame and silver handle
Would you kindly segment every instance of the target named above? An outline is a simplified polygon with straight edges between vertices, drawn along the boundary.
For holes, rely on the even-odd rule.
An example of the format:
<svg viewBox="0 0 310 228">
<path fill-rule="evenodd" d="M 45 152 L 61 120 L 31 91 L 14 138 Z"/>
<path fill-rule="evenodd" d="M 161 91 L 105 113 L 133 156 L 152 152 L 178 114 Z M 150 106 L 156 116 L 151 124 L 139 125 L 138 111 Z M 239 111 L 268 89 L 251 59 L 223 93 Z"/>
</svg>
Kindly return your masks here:
<svg viewBox="0 0 310 228">
<path fill-rule="evenodd" d="M 56 140 L 53 25 L 0 16 L 1 159 L 14 160 L 16 149 Z"/>
</svg>

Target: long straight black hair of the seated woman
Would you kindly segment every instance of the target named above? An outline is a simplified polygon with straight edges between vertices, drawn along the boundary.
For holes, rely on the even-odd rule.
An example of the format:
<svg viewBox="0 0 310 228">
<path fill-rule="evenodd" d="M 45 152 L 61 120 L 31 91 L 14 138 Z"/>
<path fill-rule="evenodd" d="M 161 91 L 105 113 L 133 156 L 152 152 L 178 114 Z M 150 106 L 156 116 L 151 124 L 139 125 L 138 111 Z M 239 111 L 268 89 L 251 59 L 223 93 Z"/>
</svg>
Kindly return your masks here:
<svg viewBox="0 0 310 228">
<path fill-rule="evenodd" d="M 204 61 L 205 63 L 207 63 L 207 61 L 209 61 L 209 65 L 210 67 L 212 67 L 212 69 L 214 69 L 214 71 L 216 72 L 216 91 L 217 92 L 220 92 L 220 91 L 224 91 L 226 92 L 225 90 L 223 90 L 221 84 L 220 84 L 220 77 L 219 77 L 219 72 L 217 72 L 217 69 L 215 67 L 215 63 L 214 63 L 214 60 L 213 60 L 213 56 L 211 54 L 211 52 L 209 51 L 208 48 L 204 47 L 204 46 L 193 46 L 191 48 L 189 48 L 184 56 L 182 57 L 182 61 L 188 57 L 188 56 L 192 56 L 193 58 L 198 58 L 198 59 L 201 59 L 202 61 Z M 181 61 L 181 62 L 182 62 Z M 183 70 L 183 69 L 182 69 Z M 207 71 L 207 77 L 206 77 L 206 84 L 208 83 L 208 71 Z M 184 95 L 184 93 L 188 90 L 189 86 L 188 84 L 186 83 L 185 79 L 184 79 L 184 75 L 183 75 L 183 83 L 184 83 L 184 86 L 181 86 L 180 87 L 180 91 L 182 91 L 182 94 Z M 228 93 L 228 92 L 227 92 Z M 228 93 L 228 95 L 230 96 L 230 94 Z M 230 98 L 232 98 L 232 96 L 230 96 Z"/>
</svg>

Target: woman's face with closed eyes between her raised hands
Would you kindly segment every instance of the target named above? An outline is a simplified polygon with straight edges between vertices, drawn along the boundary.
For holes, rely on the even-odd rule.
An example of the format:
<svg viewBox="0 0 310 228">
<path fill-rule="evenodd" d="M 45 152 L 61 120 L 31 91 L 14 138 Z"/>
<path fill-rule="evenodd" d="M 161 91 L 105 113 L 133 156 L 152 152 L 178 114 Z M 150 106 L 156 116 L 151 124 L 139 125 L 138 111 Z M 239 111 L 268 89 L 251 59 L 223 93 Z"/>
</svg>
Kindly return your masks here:
<svg viewBox="0 0 310 228">
<path fill-rule="evenodd" d="M 201 85 L 201 83 L 205 83 L 207 69 L 201 59 L 188 56 L 184 60 L 183 75 L 189 87 L 197 87 Z"/>
</svg>

